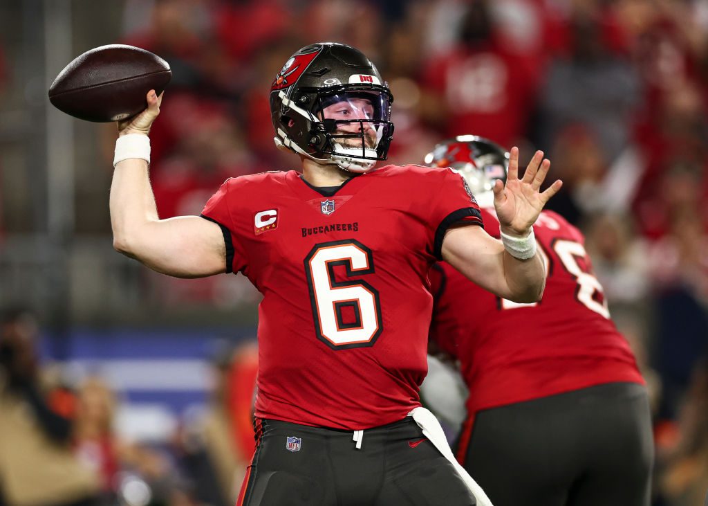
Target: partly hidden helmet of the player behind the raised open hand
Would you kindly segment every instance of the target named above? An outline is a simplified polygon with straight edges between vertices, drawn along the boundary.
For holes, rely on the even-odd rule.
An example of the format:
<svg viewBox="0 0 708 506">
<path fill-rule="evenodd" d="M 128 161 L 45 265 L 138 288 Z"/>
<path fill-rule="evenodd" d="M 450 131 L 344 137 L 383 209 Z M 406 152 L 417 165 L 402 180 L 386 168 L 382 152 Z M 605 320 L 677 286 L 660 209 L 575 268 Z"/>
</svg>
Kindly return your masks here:
<svg viewBox="0 0 708 506">
<path fill-rule="evenodd" d="M 444 140 L 426 154 L 430 167 L 452 167 L 469 184 L 480 206 L 491 206 L 494 200 L 494 182 L 506 182 L 509 153 L 500 145 L 476 135 L 459 135 Z"/>
</svg>

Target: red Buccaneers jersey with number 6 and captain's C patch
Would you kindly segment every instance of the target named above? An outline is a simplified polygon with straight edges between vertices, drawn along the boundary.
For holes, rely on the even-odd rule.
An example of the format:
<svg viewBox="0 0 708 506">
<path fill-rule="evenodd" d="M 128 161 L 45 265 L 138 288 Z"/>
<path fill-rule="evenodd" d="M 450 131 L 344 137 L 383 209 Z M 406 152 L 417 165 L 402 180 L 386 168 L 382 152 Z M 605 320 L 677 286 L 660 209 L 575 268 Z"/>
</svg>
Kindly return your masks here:
<svg viewBox="0 0 708 506">
<path fill-rule="evenodd" d="M 327 193 L 323 191 L 322 193 Z M 324 196 L 298 172 L 228 179 L 202 215 L 263 293 L 256 416 L 360 430 L 419 405 L 428 271 L 452 223 L 481 225 L 451 170 L 389 165 Z"/>
</svg>

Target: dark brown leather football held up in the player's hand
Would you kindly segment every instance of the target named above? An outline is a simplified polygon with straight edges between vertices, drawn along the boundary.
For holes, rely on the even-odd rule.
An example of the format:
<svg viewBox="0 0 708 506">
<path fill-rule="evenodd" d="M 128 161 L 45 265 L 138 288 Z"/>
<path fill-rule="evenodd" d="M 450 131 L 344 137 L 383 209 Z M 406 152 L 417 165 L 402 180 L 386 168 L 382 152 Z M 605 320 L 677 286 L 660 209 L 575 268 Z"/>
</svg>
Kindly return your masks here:
<svg viewBox="0 0 708 506">
<path fill-rule="evenodd" d="M 161 94 L 171 77 L 169 64 L 152 52 L 132 45 L 103 45 L 64 67 L 49 89 L 49 99 L 74 118 L 118 121 L 146 108 L 147 92 Z"/>
</svg>

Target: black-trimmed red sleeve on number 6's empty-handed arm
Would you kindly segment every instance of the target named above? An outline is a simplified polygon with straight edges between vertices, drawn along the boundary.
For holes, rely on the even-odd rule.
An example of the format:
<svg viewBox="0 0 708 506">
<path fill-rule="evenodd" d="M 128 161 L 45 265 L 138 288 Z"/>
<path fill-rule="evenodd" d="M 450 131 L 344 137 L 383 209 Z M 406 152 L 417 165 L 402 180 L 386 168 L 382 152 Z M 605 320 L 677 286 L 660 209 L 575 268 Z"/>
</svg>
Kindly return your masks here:
<svg viewBox="0 0 708 506">
<path fill-rule="evenodd" d="M 462 175 L 452 169 L 442 169 L 437 196 L 431 202 L 430 223 L 435 227 L 434 252 L 442 260 L 442 240 L 452 225 L 464 223 L 484 227 L 477 201 Z"/>
</svg>

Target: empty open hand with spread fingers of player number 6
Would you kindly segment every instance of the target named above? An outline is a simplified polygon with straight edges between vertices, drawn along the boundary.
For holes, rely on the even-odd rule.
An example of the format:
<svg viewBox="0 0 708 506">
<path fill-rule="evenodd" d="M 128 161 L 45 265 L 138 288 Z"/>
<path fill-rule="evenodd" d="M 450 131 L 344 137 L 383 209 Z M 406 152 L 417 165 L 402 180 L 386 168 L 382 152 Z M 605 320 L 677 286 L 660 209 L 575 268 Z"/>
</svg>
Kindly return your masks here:
<svg viewBox="0 0 708 506">
<path fill-rule="evenodd" d="M 526 237 L 543 206 L 561 189 L 563 183 L 556 179 L 549 188 L 539 192 L 549 167 L 551 162 L 543 158 L 542 151 L 537 151 L 523 179 L 519 179 L 519 150 L 511 148 L 506 184 L 498 180 L 494 185 L 494 208 L 505 234 Z"/>
</svg>

